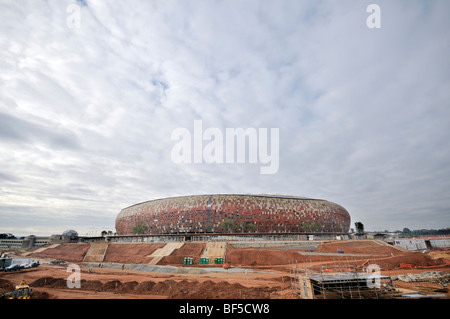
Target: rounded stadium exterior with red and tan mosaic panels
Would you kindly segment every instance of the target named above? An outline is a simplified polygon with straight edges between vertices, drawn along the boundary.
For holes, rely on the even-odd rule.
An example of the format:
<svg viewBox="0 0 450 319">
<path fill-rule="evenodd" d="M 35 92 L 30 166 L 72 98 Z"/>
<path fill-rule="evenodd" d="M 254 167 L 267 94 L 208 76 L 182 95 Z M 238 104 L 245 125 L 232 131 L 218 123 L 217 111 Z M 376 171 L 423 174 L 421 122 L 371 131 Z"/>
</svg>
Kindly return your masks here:
<svg viewBox="0 0 450 319">
<path fill-rule="evenodd" d="M 346 233 L 350 215 L 342 206 L 321 199 L 269 195 L 194 195 L 152 200 L 122 209 L 118 235 L 130 235 L 138 222 L 148 234 L 222 233 L 221 222 L 250 223 L 257 233 L 296 233 L 305 223 L 320 232 Z"/>
</svg>

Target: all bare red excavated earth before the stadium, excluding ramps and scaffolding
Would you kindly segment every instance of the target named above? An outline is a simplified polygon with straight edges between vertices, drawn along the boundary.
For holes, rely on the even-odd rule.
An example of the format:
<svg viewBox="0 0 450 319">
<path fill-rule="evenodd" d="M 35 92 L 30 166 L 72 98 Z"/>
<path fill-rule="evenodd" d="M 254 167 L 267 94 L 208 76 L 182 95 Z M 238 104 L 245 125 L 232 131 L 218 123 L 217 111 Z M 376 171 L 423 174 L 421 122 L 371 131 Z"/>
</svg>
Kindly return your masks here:
<svg viewBox="0 0 450 319">
<path fill-rule="evenodd" d="M 154 258 L 151 255 L 164 245 L 109 244 L 103 262 L 98 263 L 100 267 L 83 263 L 90 244 L 61 244 L 44 251 L 29 249 L 23 251 L 22 255 L 40 260 L 42 264 L 38 268 L 0 273 L 0 293 L 11 291 L 15 285 L 26 280 L 33 289 L 33 298 L 42 299 L 290 299 L 297 298 L 291 289 L 290 268 L 293 265 L 377 264 L 382 274 L 393 276 L 396 279 L 394 286 L 404 291 L 426 294 L 438 291 L 449 297 L 447 288 L 442 287 L 439 280 L 406 282 L 398 276 L 430 271 L 448 275 L 450 251 L 445 249 L 424 254 L 400 250 L 372 240 L 324 241 L 317 243 L 315 249 L 305 249 L 306 246 L 302 245 L 288 248 L 249 245 L 251 247 L 242 248 L 242 245 L 229 242 L 226 245 L 225 261 L 230 263 L 232 269 L 224 270 L 219 268 L 221 265 L 214 263 L 200 265 L 205 243 L 188 242 L 156 263 L 161 269 L 172 266 L 169 267 L 171 271 L 133 270 L 131 265 L 149 264 Z M 192 257 L 193 264 L 184 265 L 185 257 Z M 66 263 L 49 264 L 52 260 Z M 101 267 L 101 264 L 112 263 L 123 264 L 124 269 Z M 69 264 L 81 266 L 80 288 L 69 289 L 67 286 Z M 89 272 L 86 267 L 92 267 L 92 271 Z M 178 270 L 199 271 L 173 271 L 174 267 L 179 267 Z M 214 267 L 221 271 L 215 271 Z"/>
</svg>

